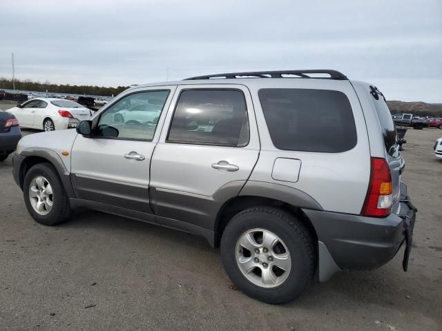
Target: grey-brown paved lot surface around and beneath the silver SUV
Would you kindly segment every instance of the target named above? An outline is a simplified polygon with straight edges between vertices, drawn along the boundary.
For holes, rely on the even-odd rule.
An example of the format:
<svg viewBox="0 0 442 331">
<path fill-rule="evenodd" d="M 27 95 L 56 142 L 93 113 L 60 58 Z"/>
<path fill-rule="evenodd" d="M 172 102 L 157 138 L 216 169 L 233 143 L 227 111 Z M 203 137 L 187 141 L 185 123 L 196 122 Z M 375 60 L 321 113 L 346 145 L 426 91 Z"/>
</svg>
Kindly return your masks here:
<svg viewBox="0 0 442 331">
<path fill-rule="evenodd" d="M 432 153 L 441 136 L 405 136 L 403 180 L 419 208 L 410 271 L 401 249 L 383 268 L 340 272 L 287 305 L 231 290 L 219 251 L 190 234 L 100 212 L 35 223 L 9 158 L 0 164 L 0 329 L 441 330 L 442 160 Z"/>
</svg>

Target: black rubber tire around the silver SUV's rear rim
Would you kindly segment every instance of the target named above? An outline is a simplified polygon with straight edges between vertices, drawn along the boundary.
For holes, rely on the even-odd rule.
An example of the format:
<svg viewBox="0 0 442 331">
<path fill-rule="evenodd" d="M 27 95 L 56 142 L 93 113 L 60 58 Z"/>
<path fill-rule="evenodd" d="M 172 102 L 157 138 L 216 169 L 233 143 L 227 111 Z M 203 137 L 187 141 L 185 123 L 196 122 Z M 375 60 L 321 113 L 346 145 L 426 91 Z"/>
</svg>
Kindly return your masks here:
<svg viewBox="0 0 442 331">
<path fill-rule="evenodd" d="M 236 243 L 253 228 L 262 228 L 284 241 L 291 257 L 287 279 L 277 287 L 264 288 L 249 281 L 236 263 Z M 231 281 L 245 294 L 266 303 L 293 301 L 304 292 L 316 268 L 314 241 L 307 228 L 294 215 L 270 206 L 250 208 L 237 214 L 225 228 L 221 239 L 221 258 Z"/>
</svg>

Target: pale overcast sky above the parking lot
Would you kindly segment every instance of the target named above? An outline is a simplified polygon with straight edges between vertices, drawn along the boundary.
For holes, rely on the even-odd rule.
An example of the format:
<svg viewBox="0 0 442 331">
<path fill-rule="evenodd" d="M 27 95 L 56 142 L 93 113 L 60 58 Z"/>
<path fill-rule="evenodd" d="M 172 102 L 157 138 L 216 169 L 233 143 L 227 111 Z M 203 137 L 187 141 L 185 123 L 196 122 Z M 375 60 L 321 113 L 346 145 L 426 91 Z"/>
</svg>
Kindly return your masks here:
<svg viewBox="0 0 442 331">
<path fill-rule="evenodd" d="M 0 77 L 128 86 L 336 69 L 442 103 L 442 0 L 1 0 Z"/>
</svg>

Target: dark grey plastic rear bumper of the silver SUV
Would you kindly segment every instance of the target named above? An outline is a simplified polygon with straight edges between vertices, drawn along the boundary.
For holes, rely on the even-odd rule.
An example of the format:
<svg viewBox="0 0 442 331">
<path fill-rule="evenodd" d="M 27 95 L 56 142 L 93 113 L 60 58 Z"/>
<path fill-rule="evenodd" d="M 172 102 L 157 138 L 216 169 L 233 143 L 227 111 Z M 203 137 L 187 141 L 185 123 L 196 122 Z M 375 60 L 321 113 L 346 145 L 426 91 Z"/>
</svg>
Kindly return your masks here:
<svg viewBox="0 0 442 331">
<path fill-rule="evenodd" d="M 396 255 L 407 234 L 409 254 L 416 210 L 411 203 L 405 202 L 408 200 L 406 191 L 406 185 L 403 184 L 401 192 L 404 195 L 401 201 L 404 202 L 400 203 L 397 214 L 390 214 L 385 218 L 304 210 L 313 223 L 320 242 L 321 281 L 327 280 L 340 269 L 371 270 L 384 265 Z M 333 263 L 324 261 L 330 258 Z M 327 265 L 326 270 L 324 265 Z"/>
</svg>

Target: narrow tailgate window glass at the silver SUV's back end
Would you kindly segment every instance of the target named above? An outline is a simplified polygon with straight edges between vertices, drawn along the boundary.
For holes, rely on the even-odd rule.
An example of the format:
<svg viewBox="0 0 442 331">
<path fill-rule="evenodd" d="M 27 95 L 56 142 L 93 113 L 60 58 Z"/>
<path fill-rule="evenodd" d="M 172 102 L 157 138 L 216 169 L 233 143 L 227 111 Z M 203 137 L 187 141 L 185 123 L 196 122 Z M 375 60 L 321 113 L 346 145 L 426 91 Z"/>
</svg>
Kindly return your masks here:
<svg viewBox="0 0 442 331">
<path fill-rule="evenodd" d="M 399 146 L 396 143 L 396 128 L 394 126 L 392 114 L 388 109 L 387 103 L 385 103 L 383 98 L 379 98 L 379 100 L 372 98 L 372 100 L 374 103 L 374 108 L 378 113 L 379 123 L 381 124 L 385 149 L 392 157 L 399 157 Z"/>
</svg>

